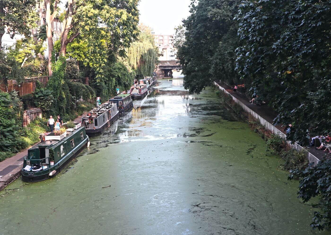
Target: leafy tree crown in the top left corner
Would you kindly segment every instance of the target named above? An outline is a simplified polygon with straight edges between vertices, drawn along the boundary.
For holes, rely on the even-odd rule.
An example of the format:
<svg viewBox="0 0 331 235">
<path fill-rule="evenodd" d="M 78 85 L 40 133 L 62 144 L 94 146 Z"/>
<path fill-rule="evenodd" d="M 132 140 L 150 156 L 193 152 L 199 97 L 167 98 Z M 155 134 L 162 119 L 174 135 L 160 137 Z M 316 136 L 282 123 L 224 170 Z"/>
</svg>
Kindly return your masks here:
<svg viewBox="0 0 331 235">
<path fill-rule="evenodd" d="M 29 26 L 35 20 L 35 4 L 36 0 L 0 0 L 0 50 L 5 31 L 11 38 L 16 34 L 30 34 Z"/>
</svg>

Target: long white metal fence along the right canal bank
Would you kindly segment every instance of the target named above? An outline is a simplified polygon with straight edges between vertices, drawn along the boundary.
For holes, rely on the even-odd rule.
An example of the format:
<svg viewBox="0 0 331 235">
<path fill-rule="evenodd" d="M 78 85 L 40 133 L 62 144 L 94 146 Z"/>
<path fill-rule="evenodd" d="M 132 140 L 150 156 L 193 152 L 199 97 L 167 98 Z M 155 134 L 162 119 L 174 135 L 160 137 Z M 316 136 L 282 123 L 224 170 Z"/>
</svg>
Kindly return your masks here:
<svg viewBox="0 0 331 235">
<path fill-rule="evenodd" d="M 222 91 L 224 91 L 226 94 L 231 95 L 224 87 L 218 85 L 217 83 L 214 82 L 214 84 L 216 86 L 219 87 L 219 89 L 221 89 Z M 272 133 L 279 135 L 282 138 L 286 138 L 286 135 L 281 132 L 280 130 L 278 130 L 274 125 L 272 125 L 270 122 L 268 122 L 267 120 L 265 120 L 264 118 L 262 118 L 260 115 L 258 115 L 257 113 L 255 113 L 253 110 L 251 110 L 249 107 L 247 107 L 243 102 L 241 102 L 240 100 L 238 100 L 236 97 L 232 96 L 232 99 L 238 103 L 245 112 L 250 113 L 254 118 L 260 120 L 260 123 L 265 126 L 266 129 L 272 131 Z M 296 149 L 298 151 L 300 150 L 305 150 L 307 152 L 307 159 L 310 162 L 314 162 L 315 165 L 319 162 L 319 159 L 317 157 L 315 157 L 314 155 L 312 155 L 310 152 L 308 152 L 305 148 L 303 148 L 302 146 L 298 145 L 297 143 L 295 144 L 291 144 L 290 141 L 287 141 L 287 143 L 291 146 L 292 149 Z"/>
</svg>

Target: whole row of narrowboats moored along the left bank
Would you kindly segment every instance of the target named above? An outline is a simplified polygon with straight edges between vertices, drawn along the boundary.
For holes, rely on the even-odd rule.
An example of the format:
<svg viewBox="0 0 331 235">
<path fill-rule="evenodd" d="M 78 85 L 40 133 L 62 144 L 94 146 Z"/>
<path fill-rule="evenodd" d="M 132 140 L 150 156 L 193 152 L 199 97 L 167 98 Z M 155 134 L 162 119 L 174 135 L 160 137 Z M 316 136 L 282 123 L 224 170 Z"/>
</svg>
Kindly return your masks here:
<svg viewBox="0 0 331 235">
<path fill-rule="evenodd" d="M 22 180 L 38 182 L 58 174 L 73 158 L 89 146 L 89 136 L 96 136 L 114 124 L 119 115 L 130 112 L 133 99 L 147 98 L 151 86 L 156 84 L 156 77 L 139 80 L 139 85 L 132 87 L 129 94 L 121 94 L 109 99 L 108 103 L 93 108 L 82 116 L 81 123 L 73 131 L 52 132 L 45 136 L 45 141 L 28 150 L 24 157 Z M 69 129 L 68 129 L 69 130 Z"/>
</svg>

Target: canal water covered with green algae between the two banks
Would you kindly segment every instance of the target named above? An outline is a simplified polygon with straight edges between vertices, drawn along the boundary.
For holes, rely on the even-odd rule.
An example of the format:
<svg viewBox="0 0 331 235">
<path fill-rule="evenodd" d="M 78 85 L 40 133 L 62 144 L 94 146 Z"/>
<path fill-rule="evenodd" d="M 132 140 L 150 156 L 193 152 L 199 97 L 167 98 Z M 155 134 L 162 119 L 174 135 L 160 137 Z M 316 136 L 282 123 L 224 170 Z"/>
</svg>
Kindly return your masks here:
<svg viewBox="0 0 331 235">
<path fill-rule="evenodd" d="M 159 80 L 55 178 L 1 191 L 1 233 L 329 234 L 259 135 L 182 82 Z"/>
</svg>

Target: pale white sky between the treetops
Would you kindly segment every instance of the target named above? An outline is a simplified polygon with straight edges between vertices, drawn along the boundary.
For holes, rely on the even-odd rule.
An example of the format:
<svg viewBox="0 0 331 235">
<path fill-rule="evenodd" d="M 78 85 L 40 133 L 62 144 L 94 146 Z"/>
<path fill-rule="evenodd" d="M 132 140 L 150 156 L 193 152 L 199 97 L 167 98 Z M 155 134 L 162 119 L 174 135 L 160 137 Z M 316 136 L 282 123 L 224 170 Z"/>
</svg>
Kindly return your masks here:
<svg viewBox="0 0 331 235">
<path fill-rule="evenodd" d="M 174 34 L 174 27 L 187 18 L 191 0 L 140 0 L 139 23 L 154 28 L 155 34 Z"/>
</svg>

